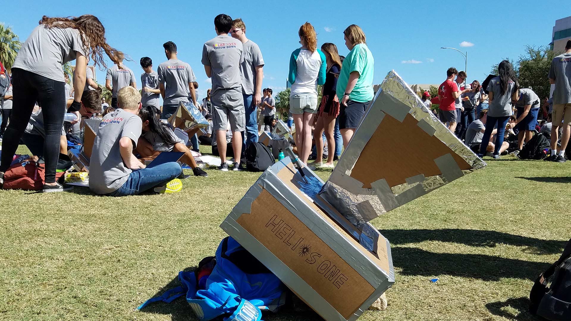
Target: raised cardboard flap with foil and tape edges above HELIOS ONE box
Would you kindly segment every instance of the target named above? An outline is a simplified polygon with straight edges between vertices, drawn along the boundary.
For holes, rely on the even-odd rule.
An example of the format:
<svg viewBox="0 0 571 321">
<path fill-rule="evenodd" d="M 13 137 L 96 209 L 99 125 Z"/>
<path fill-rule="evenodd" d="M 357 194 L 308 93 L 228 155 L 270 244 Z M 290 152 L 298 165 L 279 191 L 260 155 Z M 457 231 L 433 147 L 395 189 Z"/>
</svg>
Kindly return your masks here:
<svg viewBox="0 0 571 321">
<path fill-rule="evenodd" d="M 485 165 L 393 70 L 320 196 L 358 225 Z"/>
</svg>

